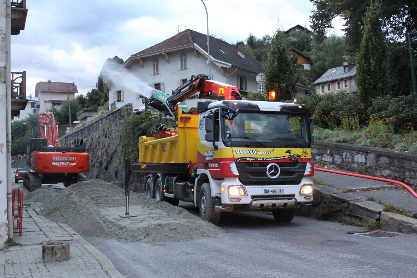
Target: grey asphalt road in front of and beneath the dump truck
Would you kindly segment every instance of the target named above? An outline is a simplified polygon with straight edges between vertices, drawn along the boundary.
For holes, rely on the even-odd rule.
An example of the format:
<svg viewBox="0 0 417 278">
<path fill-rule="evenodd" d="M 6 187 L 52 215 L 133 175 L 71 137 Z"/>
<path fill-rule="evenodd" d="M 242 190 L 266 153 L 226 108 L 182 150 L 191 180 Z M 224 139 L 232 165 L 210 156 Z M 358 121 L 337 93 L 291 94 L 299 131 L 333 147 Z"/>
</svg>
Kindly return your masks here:
<svg viewBox="0 0 417 278">
<path fill-rule="evenodd" d="M 196 213 L 195 210 L 191 212 Z M 228 213 L 226 234 L 176 243 L 84 237 L 127 277 L 415 277 L 417 234 L 371 238 L 361 228 L 265 213 Z"/>
</svg>

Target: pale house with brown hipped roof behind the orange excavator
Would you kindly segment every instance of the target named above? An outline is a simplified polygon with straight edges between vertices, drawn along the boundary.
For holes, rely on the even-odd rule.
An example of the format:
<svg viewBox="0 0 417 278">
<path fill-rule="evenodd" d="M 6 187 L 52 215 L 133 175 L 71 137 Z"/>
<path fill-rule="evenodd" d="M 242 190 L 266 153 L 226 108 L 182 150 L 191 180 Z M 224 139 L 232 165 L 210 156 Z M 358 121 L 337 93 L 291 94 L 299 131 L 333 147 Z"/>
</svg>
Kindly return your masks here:
<svg viewBox="0 0 417 278">
<path fill-rule="evenodd" d="M 75 93 L 78 93 L 77 85 L 66 82 L 38 82 L 35 86 L 35 97 L 38 98 L 39 111 L 46 112 L 52 106 L 59 106 L 68 100 L 67 92 L 69 91 L 69 98 L 73 100 Z"/>
</svg>

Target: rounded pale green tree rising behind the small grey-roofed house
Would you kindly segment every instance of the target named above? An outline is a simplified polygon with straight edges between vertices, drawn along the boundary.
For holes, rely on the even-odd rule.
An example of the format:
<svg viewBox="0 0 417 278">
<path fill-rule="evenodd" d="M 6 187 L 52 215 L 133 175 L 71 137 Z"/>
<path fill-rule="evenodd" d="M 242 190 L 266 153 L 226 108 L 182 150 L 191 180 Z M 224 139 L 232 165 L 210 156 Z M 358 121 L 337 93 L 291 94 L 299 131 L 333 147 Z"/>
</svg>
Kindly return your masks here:
<svg viewBox="0 0 417 278">
<path fill-rule="evenodd" d="M 313 45 L 311 50 L 311 71 L 320 77 L 328 69 L 342 66 L 346 56 L 350 57 L 351 55 L 348 52 L 345 38 L 331 35 L 321 43 Z"/>
</svg>

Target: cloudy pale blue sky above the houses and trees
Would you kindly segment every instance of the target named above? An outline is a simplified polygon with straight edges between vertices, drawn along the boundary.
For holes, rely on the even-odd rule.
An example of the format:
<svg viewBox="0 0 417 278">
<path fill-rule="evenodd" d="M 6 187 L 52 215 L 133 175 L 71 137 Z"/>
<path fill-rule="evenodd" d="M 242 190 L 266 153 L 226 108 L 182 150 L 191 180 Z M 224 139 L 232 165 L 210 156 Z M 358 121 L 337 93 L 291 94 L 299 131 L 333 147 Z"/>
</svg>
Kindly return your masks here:
<svg viewBox="0 0 417 278">
<path fill-rule="evenodd" d="M 284 30 L 310 28 L 315 10 L 309 0 L 205 0 L 209 32 L 229 43 L 249 33 L 272 35 L 279 21 Z M 80 93 L 95 86 L 107 58 L 130 55 L 186 28 L 206 33 L 200 0 L 28 0 L 25 30 L 12 36 L 12 70 L 27 72 L 27 92 L 35 84 L 75 82 Z M 342 35 L 342 22 L 332 32 Z"/>
</svg>

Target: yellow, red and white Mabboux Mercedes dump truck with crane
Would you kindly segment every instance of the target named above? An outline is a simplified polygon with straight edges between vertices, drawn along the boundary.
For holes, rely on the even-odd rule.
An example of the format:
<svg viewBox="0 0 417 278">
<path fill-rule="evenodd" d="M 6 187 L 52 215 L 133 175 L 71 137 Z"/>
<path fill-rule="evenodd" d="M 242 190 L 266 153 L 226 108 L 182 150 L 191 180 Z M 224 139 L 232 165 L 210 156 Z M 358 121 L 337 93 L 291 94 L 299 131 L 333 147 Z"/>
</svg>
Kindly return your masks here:
<svg viewBox="0 0 417 278">
<path fill-rule="evenodd" d="M 178 108 L 200 92 L 195 110 Z M 312 121 L 304 105 L 241 100 L 232 85 L 192 76 L 171 96 L 153 90 L 150 105 L 172 113 L 177 126 L 141 136 L 132 171 L 147 173 L 144 192 L 172 205 L 191 202 L 204 220 L 222 212 L 265 211 L 294 218 L 313 201 Z"/>
</svg>

